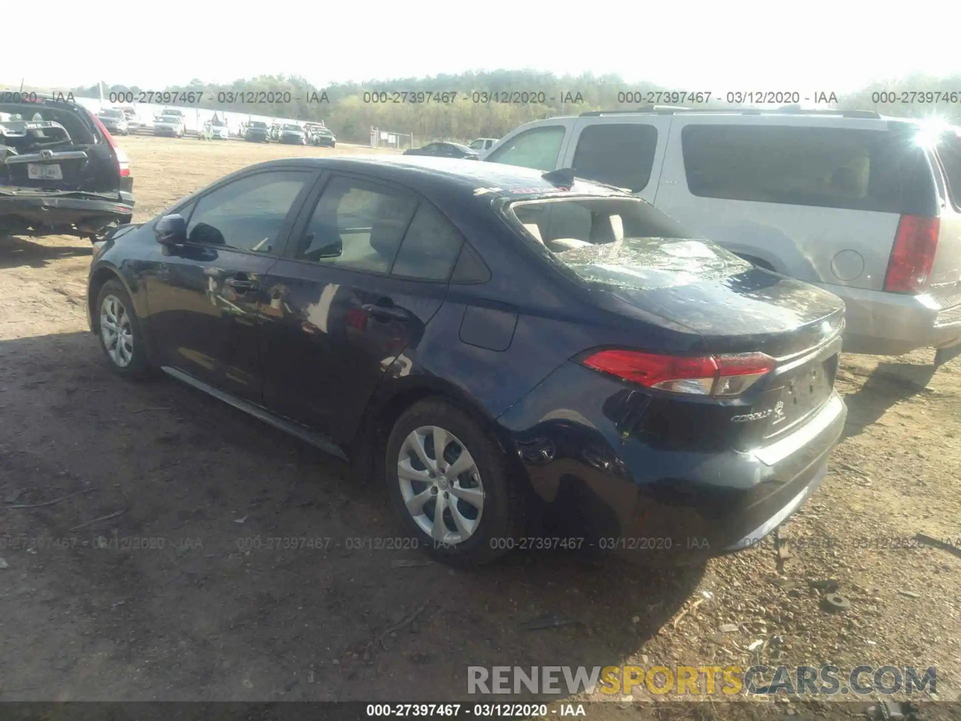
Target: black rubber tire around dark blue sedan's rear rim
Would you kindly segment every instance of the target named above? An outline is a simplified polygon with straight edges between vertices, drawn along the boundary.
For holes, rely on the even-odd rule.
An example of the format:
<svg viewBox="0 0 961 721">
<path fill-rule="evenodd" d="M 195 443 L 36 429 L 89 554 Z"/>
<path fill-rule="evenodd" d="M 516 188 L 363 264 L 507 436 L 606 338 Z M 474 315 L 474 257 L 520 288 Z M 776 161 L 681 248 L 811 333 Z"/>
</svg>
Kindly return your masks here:
<svg viewBox="0 0 961 721">
<path fill-rule="evenodd" d="M 407 436 L 424 426 L 437 426 L 453 435 L 452 442 L 446 446 L 447 451 L 456 454 L 457 447 L 462 446 L 477 466 L 483 493 L 482 510 L 475 519 L 477 526 L 473 533 L 459 542 L 438 542 L 418 525 L 411 512 L 407 510 L 398 474 L 398 461 Z M 432 453 L 432 440 L 429 444 L 430 453 Z M 456 460 L 456 455 L 453 458 Z M 448 457 L 446 462 L 453 463 L 454 460 Z M 423 465 L 423 463 L 420 464 Z M 446 400 L 427 399 L 414 404 L 401 414 L 387 439 L 384 471 L 391 506 L 400 516 L 407 532 L 417 539 L 418 547 L 426 548 L 431 556 L 444 563 L 469 566 L 489 562 L 503 556 L 514 546 L 513 541 L 523 535 L 527 521 L 527 494 L 524 492 L 522 479 L 511 472 L 508 459 L 495 438 L 468 412 Z M 463 490 L 461 487 L 463 484 L 473 483 L 469 479 L 464 479 L 465 475 L 458 477 L 456 482 L 461 490 Z M 417 491 L 412 492 L 426 490 L 434 494 L 433 498 L 424 504 L 424 516 L 431 520 L 428 516 L 431 516 L 437 508 L 437 501 L 433 499 L 437 498 L 438 489 L 431 490 L 430 486 L 421 482 L 414 483 L 418 488 Z M 447 482 L 445 480 L 440 483 Z M 445 485 L 444 487 L 455 486 Z M 447 495 L 447 491 L 439 492 L 444 493 L 445 498 L 449 499 L 444 503 L 453 502 L 458 509 L 476 511 L 469 504 L 465 506 L 465 501 L 450 500 L 453 499 L 453 491 L 451 496 Z M 450 516 L 450 510 L 445 511 L 442 523 L 447 531 L 456 531 L 452 528 L 454 521 L 453 516 Z"/>
</svg>

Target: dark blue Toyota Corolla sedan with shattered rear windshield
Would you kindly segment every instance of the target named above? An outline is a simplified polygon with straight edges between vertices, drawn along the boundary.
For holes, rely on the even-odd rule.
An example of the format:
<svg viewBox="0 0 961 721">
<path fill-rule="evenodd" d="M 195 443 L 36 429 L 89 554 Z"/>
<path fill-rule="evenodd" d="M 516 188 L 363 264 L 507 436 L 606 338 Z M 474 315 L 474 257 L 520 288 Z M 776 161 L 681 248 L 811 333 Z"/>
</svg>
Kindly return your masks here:
<svg viewBox="0 0 961 721">
<path fill-rule="evenodd" d="M 355 461 L 448 562 L 750 546 L 846 413 L 836 297 L 563 170 L 261 163 L 112 232 L 87 298 L 121 376 Z"/>
</svg>

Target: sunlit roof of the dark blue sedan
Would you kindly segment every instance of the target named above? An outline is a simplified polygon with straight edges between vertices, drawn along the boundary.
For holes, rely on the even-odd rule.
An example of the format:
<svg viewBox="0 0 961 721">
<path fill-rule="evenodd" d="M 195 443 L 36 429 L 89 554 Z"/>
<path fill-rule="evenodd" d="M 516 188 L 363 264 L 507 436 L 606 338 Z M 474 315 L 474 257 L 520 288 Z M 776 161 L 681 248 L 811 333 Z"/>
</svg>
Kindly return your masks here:
<svg viewBox="0 0 961 721">
<path fill-rule="evenodd" d="M 549 194 L 613 195 L 630 193 L 600 183 L 578 179 L 567 188 L 545 179 L 544 172 L 499 162 L 481 162 L 425 156 L 337 156 L 333 158 L 288 158 L 261 162 L 258 168 L 291 164 L 308 168 L 369 174 L 398 183 L 425 195 L 449 193 L 452 188 L 472 196 L 538 196 Z M 480 192 L 479 192 L 480 191 Z"/>
</svg>

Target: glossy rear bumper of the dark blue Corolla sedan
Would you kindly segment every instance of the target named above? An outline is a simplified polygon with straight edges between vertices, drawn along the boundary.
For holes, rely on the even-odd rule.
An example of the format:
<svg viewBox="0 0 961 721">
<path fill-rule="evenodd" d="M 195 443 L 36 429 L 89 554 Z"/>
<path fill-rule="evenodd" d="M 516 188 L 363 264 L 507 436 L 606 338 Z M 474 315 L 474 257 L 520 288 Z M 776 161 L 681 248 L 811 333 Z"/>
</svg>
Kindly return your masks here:
<svg viewBox="0 0 961 721">
<path fill-rule="evenodd" d="M 499 420 L 571 535 L 649 565 L 700 562 L 773 531 L 821 484 L 847 416 L 832 393 L 800 428 L 752 451 L 667 448 L 618 431 L 609 401 L 624 387 L 567 363 Z"/>
</svg>

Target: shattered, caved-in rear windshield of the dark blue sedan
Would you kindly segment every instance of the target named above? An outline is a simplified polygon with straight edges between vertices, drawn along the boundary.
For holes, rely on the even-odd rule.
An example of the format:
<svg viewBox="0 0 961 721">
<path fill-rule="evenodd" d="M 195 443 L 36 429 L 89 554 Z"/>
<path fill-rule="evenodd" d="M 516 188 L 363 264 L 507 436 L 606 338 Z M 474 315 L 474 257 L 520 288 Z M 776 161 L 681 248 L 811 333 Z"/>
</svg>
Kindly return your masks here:
<svg viewBox="0 0 961 721">
<path fill-rule="evenodd" d="M 506 215 L 549 261 L 592 286 L 653 290 L 721 280 L 752 267 L 635 198 L 520 201 Z"/>
</svg>

